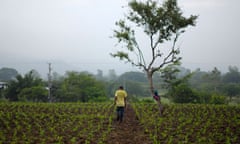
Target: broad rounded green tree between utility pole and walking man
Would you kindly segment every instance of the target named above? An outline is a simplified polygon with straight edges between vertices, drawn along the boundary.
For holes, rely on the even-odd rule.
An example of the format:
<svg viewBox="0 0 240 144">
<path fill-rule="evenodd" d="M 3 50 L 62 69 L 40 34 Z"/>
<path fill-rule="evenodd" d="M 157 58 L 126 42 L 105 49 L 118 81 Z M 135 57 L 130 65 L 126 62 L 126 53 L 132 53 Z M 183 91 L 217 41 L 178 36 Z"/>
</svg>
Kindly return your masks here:
<svg viewBox="0 0 240 144">
<path fill-rule="evenodd" d="M 106 97 L 104 84 L 88 73 L 68 72 L 61 85 L 59 101 L 87 102 L 98 97 Z"/>
</svg>

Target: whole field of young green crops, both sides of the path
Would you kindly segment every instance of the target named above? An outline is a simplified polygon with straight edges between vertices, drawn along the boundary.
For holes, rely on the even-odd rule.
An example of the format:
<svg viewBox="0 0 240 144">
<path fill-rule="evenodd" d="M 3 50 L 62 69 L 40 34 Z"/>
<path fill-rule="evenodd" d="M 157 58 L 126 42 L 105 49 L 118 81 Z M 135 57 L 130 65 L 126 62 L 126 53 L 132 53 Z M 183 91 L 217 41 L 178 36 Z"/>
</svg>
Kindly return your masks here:
<svg viewBox="0 0 240 144">
<path fill-rule="evenodd" d="M 162 117 L 155 104 L 132 103 L 129 108 L 136 114 L 131 119 L 139 123 L 134 121 L 134 125 L 143 127 L 152 144 L 240 143 L 239 106 L 165 105 Z M 123 127 L 128 129 L 133 125 L 126 123 Z M 111 103 L 0 103 L 3 144 L 108 143 L 118 133 L 114 125 Z"/>
</svg>

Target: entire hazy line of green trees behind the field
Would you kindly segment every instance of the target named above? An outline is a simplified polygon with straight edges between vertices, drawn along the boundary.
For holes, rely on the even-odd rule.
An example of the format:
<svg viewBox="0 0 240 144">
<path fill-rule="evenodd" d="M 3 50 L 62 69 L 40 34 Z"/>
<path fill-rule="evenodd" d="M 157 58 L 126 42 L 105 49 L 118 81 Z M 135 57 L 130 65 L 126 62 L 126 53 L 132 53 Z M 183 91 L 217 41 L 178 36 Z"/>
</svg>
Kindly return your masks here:
<svg viewBox="0 0 240 144">
<path fill-rule="evenodd" d="M 235 66 L 229 66 L 227 73 L 221 73 L 216 67 L 206 72 L 169 66 L 154 74 L 153 80 L 155 89 L 175 103 L 239 103 L 240 72 Z M 48 81 L 42 79 L 36 70 L 20 75 L 13 68 L 1 68 L 0 81 L 8 85 L 0 91 L 1 99 L 7 101 L 107 101 L 114 96 L 119 85 L 125 87 L 130 99 L 151 97 L 148 80 L 143 72 L 131 71 L 117 75 L 115 70 L 109 70 L 107 75 L 103 75 L 102 70 L 98 70 L 97 74 L 68 71 L 63 76 L 54 72 L 51 97 Z"/>
</svg>

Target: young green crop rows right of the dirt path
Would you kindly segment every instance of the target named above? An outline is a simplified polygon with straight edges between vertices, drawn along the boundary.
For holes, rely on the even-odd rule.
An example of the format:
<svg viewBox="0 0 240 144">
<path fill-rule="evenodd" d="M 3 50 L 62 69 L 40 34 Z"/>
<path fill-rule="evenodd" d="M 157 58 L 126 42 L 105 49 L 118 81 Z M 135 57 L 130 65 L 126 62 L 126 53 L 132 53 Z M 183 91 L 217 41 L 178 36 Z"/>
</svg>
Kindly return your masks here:
<svg viewBox="0 0 240 144">
<path fill-rule="evenodd" d="M 226 105 L 133 105 L 145 132 L 159 143 L 240 143 L 240 107 Z"/>
</svg>

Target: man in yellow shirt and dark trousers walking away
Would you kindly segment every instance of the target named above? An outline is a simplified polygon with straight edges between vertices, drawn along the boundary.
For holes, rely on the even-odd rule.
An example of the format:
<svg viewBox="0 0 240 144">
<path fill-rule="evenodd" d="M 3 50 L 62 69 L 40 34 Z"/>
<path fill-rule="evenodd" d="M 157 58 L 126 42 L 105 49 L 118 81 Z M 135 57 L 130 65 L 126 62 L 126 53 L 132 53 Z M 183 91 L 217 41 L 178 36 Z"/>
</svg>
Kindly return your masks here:
<svg viewBox="0 0 240 144">
<path fill-rule="evenodd" d="M 123 121 L 124 109 L 126 108 L 127 101 L 127 92 L 123 89 L 123 86 L 120 86 L 119 89 L 115 92 L 114 103 L 117 106 L 117 121 Z"/>
</svg>

